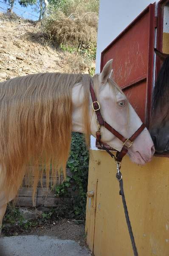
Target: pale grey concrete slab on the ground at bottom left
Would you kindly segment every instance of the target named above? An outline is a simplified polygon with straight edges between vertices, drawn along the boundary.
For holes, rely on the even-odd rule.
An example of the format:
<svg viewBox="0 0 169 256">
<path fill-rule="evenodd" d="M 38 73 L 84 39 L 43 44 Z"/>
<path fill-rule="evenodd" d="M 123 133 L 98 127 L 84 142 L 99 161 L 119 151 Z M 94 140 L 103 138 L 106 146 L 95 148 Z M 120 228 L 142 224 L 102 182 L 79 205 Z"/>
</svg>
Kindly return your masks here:
<svg viewBox="0 0 169 256">
<path fill-rule="evenodd" d="M 0 256 L 91 256 L 89 250 L 72 240 L 49 236 L 0 238 Z"/>
</svg>

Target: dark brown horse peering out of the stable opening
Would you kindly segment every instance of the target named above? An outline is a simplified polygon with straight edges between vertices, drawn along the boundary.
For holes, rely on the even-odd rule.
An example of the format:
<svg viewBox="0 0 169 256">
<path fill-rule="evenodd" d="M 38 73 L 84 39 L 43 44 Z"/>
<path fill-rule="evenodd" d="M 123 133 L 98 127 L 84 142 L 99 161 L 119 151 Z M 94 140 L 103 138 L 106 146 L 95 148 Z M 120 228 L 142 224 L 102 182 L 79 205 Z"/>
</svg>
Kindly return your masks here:
<svg viewBox="0 0 169 256">
<path fill-rule="evenodd" d="M 149 132 L 156 152 L 169 151 L 169 54 L 155 49 L 163 65 L 153 91 L 152 119 Z"/>
</svg>

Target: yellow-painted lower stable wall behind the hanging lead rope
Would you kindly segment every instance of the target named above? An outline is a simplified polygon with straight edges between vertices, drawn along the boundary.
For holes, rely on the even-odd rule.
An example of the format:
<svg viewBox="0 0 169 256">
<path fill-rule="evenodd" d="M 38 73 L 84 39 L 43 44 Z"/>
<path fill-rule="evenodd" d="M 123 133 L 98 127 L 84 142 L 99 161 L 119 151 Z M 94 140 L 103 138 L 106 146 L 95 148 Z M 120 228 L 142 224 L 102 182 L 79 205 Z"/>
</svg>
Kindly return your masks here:
<svg viewBox="0 0 169 256">
<path fill-rule="evenodd" d="M 92 155 L 88 191 L 95 195 L 87 199 L 87 244 L 95 256 L 131 256 L 116 166 L 104 151 Z M 139 256 L 169 256 L 169 158 L 138 166 L 124 157 L 121 172 Z"/>
</svg>

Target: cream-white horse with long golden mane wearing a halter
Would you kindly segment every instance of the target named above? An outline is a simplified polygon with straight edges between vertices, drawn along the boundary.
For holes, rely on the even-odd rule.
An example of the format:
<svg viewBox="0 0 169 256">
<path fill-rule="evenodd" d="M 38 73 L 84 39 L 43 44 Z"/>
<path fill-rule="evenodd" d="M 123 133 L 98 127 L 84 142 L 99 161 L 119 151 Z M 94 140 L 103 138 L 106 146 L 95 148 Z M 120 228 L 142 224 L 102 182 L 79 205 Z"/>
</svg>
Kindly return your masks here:
<svg viewBox="0 0 169 256">
<path fill-rule="evenodd" d="M 109 79 L 111 69 L 112 60 L 92 78 L 94 89 L 104 119 L 128 138 L 141 126 L 141 120 L 124 93 Z M 0 224 L 28 164 L 34 166 L 35 189 L 44 169 L 47 177 L 50 168 L 54 178 L 60 169 L 65 172 L 71 131 L 85 133 L 88 145 L 90 134 L 96 136 L 90 79 L 86 74 L 43 73 L 0 83 Z M 120 151 L 122 142 L 106 128 L 101 131 L 101 140 Z M 145 128 L 128 155 L 133 162 L 145 164 L 154 151 Z"/>
</svg>

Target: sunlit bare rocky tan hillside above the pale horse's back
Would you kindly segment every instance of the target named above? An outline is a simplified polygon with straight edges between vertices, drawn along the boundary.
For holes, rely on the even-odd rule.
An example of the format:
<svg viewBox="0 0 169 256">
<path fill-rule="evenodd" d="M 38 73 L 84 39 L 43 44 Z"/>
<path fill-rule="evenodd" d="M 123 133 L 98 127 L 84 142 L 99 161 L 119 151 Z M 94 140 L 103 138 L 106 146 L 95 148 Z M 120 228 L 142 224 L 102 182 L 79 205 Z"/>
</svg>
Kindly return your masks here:
<svg viewBox="0 0 169 256">
<path fill-rule="evenodd" d="M 43 40 L 40 23 L 0 13 L 0 82 L 32 73 L 87 73 L 82 59 L 80 70 L 76 70 L 76 63 L 73 67 L 73 59 L 78 61 Z"/>
</svg>

